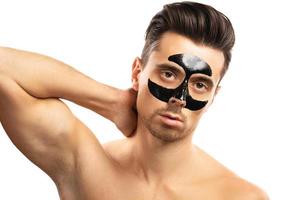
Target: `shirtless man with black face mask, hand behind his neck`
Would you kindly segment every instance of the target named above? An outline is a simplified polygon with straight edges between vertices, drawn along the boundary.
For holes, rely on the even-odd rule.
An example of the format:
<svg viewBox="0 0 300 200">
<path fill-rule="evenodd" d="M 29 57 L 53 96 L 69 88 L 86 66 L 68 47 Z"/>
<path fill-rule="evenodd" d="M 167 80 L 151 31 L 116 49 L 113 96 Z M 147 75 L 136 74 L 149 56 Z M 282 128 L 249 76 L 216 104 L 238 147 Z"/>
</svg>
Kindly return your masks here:
<svg viewBox="0 0 300 200">
<path fill-rule="evenodd" d="M 0 48 L 0 120 L 64 200 L 264 200 L 192 144 L 231 58 L 230 21 L 212 7 L 165 6 L 132 65 L 132 88 L 99 83 L 47 56 Z M 100 144 L 59 98 L 127 136 Z"/>
</svg>

